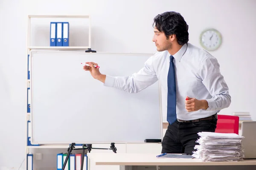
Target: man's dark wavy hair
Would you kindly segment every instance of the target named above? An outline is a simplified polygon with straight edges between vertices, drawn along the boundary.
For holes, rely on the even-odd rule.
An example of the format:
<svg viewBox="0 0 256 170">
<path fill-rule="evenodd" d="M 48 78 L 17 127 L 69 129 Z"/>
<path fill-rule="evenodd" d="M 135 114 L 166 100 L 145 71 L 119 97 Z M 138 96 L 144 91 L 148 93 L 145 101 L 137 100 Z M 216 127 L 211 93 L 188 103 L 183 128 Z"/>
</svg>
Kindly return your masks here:
<svg viewBox="0 0 256 170">
<path fill-rule="evenodd" d="M 180 13 L 170 11 L 158 14 L 154 17 L 153 27 L 160 32 L 164 32 L 167 40 L 169 35 L 175 34 L 180 45 L 184 45 L 189 41 L 189 26 Z"/>
</svg>

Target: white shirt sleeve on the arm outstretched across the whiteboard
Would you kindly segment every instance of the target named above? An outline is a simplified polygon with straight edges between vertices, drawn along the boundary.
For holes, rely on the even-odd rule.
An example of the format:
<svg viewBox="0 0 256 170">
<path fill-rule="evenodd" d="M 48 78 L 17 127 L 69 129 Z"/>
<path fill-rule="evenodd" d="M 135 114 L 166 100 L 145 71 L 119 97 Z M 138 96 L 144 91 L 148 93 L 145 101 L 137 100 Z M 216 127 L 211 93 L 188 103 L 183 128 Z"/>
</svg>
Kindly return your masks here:
<svg viewBox="0 0 256 170">
<path fill-rule="evenodd" d="M 153 58 L 150 57 L 146 62 L 145 66 L 140 69 L 137 73 L 127 77 L 112 77 L 106 75 L 105 86 L 114 87 L 128 93 L 138 93 L 139 91 L 147 88 L 154 84 L 157 79 L 156 72 L 153 67 Z"/>
</svg>

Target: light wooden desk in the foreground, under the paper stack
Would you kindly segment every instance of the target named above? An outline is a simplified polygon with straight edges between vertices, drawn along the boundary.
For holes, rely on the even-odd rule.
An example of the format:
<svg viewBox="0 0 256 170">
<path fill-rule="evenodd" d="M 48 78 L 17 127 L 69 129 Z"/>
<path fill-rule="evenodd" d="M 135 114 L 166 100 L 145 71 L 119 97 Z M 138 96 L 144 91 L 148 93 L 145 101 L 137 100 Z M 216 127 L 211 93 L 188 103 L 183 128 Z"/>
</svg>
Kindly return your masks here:
<svg viewBox="0 0 256 170">
<path fill-rule="evenodd" d="M 188 166 L 189 170 L 193 169 L 191 166 L 195 166 L 197 170 L 201 168 L 201 170 L 204 170 L 206 168 L 205 166 L 207 166 L 207 170 L 212 168 L 220 170 L 220 166 L 223 166 L 223 170 L 228 170 L 228 167 L 230 167 L 230 170 L 236 170 L 237 168 L 242 170 L 256 170 L 256 159 L 230 162 L 205 162 L 199 159 L 156 158 L 155 154 L 87 153 L 87 156 L 90 161 L 89 164 L 119 165 L 120 170 L 143 170 L 143 167 L 147 170 L 170 170 L 170 167 L 175 166 L 178 166 L 177 168 L 179 170 L 183 168 L 187 170 Z M 180 166 L 183 166 L 183 168 Z M 209 168 L 211 166 L 212 168 Z"/>
</svg>

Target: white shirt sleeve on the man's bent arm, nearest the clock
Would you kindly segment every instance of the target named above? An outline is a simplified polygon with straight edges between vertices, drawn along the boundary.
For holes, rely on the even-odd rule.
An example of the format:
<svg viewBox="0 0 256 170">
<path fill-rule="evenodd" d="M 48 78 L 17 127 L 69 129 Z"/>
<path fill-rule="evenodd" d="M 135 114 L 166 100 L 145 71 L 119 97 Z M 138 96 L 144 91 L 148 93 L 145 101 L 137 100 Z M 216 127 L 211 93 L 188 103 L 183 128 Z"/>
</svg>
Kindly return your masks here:
<svg viewBox="0 0 256 170">
<path fill-rule="evenodd" d="M 218 111 L 229 107 L 231 96 L 229 89 L 220 72 L 220 65 L 215 57 L 204 59 L 200 69 L 200 75 L 203 84 L 212 96 L 212 99 L 206 99 L 208 108 L 206 111 Z"/>
</svg>

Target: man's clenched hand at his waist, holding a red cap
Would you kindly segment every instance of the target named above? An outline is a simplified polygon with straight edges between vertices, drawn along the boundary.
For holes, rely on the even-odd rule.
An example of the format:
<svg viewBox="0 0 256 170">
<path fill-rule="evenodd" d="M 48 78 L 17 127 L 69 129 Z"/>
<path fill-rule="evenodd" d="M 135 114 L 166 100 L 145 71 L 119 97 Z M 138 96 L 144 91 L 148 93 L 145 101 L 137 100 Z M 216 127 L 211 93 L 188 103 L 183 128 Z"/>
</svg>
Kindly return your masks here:
<svg viewBox="0 0 256 170">
<path fill-rule="evenodd" d="M 188 112 L 198 111 L 200 109 L 207 109 L 208 102 L 206 100 L 198 100 L 196 98 L 190 98 L 186 96 L 185 108 Z"/>
</svg>

